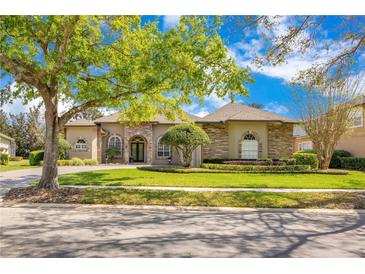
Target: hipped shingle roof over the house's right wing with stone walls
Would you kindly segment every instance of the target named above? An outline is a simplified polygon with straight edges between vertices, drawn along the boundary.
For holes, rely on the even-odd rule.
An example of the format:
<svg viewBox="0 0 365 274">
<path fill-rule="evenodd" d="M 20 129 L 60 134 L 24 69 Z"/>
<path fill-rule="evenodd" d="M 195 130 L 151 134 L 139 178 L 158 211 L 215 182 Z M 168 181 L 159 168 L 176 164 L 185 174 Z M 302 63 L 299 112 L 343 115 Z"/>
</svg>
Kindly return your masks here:
<svg viewBox="0 0 365 274">
<path fill-rule="evenodd" d="M 282 123 L 297 123 L 297 121 L 287 117 L 237 103 L 226 104 L 217 111 L 197 120 L 197 122 L 225 121 L 273 121 Z"/>
</svg>

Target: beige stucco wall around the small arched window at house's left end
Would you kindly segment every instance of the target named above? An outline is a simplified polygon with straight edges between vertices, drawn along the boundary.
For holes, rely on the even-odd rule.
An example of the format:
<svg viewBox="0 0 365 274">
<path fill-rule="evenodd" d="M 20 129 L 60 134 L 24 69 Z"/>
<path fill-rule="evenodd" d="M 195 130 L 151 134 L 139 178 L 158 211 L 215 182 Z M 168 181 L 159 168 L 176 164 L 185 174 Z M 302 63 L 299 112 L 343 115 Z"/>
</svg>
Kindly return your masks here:
<svg viewBox="0 0 365 274">
<path fill-rule="evenodd" d="M 75 151 L 74 144 L 79 138 L 86 140 L 88 151 Z M 69 157 L 97 160 L 97 128 L 95 127 L 68 127 L 66 129 L 66 140 L 72 145 Z"/>
</svg>

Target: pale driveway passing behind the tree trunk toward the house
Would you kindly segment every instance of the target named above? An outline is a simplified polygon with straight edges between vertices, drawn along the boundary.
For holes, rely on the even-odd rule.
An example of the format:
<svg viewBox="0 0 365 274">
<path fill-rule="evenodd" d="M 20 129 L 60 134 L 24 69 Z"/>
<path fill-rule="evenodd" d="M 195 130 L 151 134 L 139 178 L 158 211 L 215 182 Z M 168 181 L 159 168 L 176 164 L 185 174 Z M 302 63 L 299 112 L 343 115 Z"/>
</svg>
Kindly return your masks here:
<svg viewBox="0 0 365 274">
<path fill-rule="evenodd" d="M 99 165 L 99 166 L 61 166 L 58 167 L 58 174 L 75 173 L 92 170 L 106 170 L 118 168 L 136 168 L 136 165 Z M 13 170 L 0 173 L 0 197 L 11 188 L 27 186 L 32 181 L 39 180 L 42 175 L 42 168 Z"/>
</svg>

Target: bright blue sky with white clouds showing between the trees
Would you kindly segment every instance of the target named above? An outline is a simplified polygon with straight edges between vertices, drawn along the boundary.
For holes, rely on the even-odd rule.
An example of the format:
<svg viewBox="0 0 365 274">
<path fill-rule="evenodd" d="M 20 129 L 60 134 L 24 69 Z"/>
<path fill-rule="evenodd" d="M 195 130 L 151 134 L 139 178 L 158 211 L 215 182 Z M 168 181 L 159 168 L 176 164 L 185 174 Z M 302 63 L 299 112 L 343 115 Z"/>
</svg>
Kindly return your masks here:
<svg viewBox="0 0 365 274">
<path fill-rule="evenodd" d="M 151 16 L 143 17 L 144 22 L 153 19 Z M 168 31 L 176 27 L 179 19 L 180 16 L 161 16 L 159 18 L 159 28 L 162 31 Z M 295 18 L 293 16 L 286 16 L 279 20 L 281 23 L 280 27 L 274 29 L 276 34 L 285 33 L 290 20 L 295 20 Z M 365 20 L 364 17 L 362 20 Z M 314 52 L 293 54 L 289 56 L 287 62 L 284 64 L 276 67 L 265 65 L 261 68 L 256 67 L 252 63 L 252 60 L 255 54 L 265 48 L 264 42 L 260 39 L 260 35 L 264 33 L 264 30 L 258 28 L 255 31 L 242 33 L 239 28 L 234 28 L 230 25 L 233 23 L 227 23 L 220 31 L 224 44 L 228 48 L 230 55 L 236 59 L 239 66 L 250 67 L 251 74 L 255 80 L 254 84 L 248 85 L 249 96 L 237 97 L 236 101 L 242 103 L 260 103 L 268 111 L 290 118 L 298 118 L 292 103 L 294 88 L 289 85 L 289 82 L 300 69 L 308 68 L 315 62 L 324 61 L 347 46 L 339 43 L 331 43 L 333 39 L 337 38 L 338 32 L 335 30 L 335 27 L 339 23 L 340 19 L 334 16 L 326 20 L 326 23 L 321 28 L 319 42 L 314 48 L 315 54 L 313 54 Z M 360 66 L 365 63 L 365 54 L 360 55 L 357 61 Z M 4 80 L 1 81 L 0 88 L 4 86 L 5 82 Z M 183 109 L 202 117 L 215 111 L 229 101 L 228 98 L 218 98 L 215 94 L 212 94 L 205 98 L 202 105 L 194 102 L 191 105 L 183 106 Z M 24 105 L 21 99 L 18 99 L 13 104 L 6 104 L 2 108 L 7 113 L 19 113 L 27 111 L 29 106 L 38 105 L 39 103 L 40 100 L 36 100 L 30 102 L 28 105 Z M 64 104 L 61 104 L 59 107 L 60 112 L 68 108 L 69 106 Z M 110 113 L 113 110 L 107 112 Z"/>
</svg>

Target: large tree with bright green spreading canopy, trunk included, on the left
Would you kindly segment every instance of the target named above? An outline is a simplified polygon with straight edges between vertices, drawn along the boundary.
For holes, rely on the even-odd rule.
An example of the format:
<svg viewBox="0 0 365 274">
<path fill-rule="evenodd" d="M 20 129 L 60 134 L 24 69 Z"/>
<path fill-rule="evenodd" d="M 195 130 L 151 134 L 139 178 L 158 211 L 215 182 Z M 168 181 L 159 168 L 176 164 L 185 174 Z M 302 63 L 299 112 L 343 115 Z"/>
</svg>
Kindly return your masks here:
<svg viewBox="0 0 365 274">
<path fill-rule="evenodd" d="M 81 111 L 114 107 L 136 122 L 160 113 L 184 118 L 180 105 L 194 98 L 247 95 L 252 78 L 228 54 L 220 26 L 196 16 L 167 32 L 139 16 L 1 16 L 0 75 L 16 81 L 3 97 L 41 98 L 45 106 L 38 186 L 58 188 L 58 132 Z M 74 106 L 60 115 L 63 100 Z"/>
</svg>

